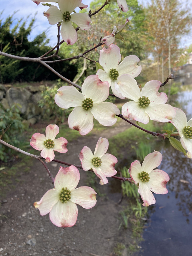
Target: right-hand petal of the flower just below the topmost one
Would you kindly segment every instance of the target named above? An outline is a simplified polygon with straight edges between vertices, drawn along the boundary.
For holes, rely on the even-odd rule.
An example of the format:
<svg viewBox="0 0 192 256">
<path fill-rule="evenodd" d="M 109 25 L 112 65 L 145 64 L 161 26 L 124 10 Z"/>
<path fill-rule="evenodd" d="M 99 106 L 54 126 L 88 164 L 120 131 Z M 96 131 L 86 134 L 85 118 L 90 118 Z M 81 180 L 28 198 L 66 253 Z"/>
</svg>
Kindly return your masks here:
<svg viewBox="0 0 192 256">
<path fill-rule="evenodd" d="M 137 65 L 140 59 L 135 55 L 129 55 L 124 58 L 124 60 L 119 64 L 117 70 L 119 72 L 119 76 L 123 74 L 130 75 L 132 77 L 139 76 L 141 73 L 141 66 Z"/>
</svg>

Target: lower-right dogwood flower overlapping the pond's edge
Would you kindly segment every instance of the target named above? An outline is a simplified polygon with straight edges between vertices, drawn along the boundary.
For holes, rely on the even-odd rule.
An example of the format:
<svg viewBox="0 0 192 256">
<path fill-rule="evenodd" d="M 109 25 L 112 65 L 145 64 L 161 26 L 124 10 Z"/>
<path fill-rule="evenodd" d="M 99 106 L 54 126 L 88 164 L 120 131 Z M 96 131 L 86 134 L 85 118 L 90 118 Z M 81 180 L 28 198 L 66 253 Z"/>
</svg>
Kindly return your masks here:
<svg viewBox="0 0 192 256">
<path fill-rule="evenodd" d="M 132 162 L 129 173 L 135 184 L 139 184 L 138 192 L 143 200 L 143 206 L 155 204 L 155 194 L 167 194 L 166 183 L 169 175 L 162 170 L 154 170 L 162 161 L 162 154 L 158 151 L 148 154 L 142 163 Z"/>
</svg>

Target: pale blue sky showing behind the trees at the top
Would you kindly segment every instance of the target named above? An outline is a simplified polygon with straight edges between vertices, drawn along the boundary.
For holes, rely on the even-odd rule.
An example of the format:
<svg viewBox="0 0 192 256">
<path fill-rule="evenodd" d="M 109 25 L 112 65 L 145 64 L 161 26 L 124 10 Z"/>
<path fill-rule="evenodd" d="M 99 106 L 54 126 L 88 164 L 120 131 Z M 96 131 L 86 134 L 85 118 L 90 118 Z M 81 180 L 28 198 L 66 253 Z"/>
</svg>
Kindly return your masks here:
<svg viewBox="0 0 192 256">
<path fill-rule="evenodd" d="M 83 0 L 84 4 L 90 4 L 91 0 Z M 148 0 L 139 0 L 140 4 L 145 5 Z M 104 3 L 104 0 L 103 0 Z M 54 3 L 52 3 L 54 4 Z M 29 14 L 30 17 L 33 17 L 35 13 L 36 22 L 35 28 L 32 30 L 32 33 L 29 37 L 29 40 L 33 39 L 35 36 L 46 30 L 47 37 L 50 38 L 51 46 L 56 45 L 57 43 L 57 26 L 50 25 L 47 18 L 43 16 L 43 12 L 46 11 L 49 7 L 43 6 L 39 4 L 38 6 L 32 2 L 31 0 L 0 0 L 0 12 L 3 11 L 1 15 L 1 19 L 5 19 L 9 14 L 13 14 L 13 12 L 17 11 L 14 14 L 15 21 L 19 20 L 21 17 L 27 18 Z M 113 26 L 112 26 L 113 27 Z M 192 33 L 188 36 L 185 36 L 181 41 L 181 47 L 188 46 L 192 44 Z"/>
</svg>

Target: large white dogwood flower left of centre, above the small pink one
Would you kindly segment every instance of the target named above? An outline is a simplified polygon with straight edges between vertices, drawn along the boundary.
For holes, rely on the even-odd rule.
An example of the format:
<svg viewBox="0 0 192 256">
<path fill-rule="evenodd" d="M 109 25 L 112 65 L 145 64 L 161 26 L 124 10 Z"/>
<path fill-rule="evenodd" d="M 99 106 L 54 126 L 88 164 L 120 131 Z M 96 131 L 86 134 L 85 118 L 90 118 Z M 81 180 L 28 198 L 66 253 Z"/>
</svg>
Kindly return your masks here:
<svg viewBox="0 0 192 256">
<path fill-rule="evenodd" d="M 108 95 L 108 82 L 102 82 L 97 75 L 91 75 L 84 80 L 82 93 L 73 86 L 63 86 L 55 95 L 55 102 L 60 108 L 75 107 L 68 117 L 69 128 L 85 135 L 93 128 L 93 116 L 105 126 L 116 123 L 115 115 L 120 111 L 115 104 L 103 102 Z"/>
</svg>

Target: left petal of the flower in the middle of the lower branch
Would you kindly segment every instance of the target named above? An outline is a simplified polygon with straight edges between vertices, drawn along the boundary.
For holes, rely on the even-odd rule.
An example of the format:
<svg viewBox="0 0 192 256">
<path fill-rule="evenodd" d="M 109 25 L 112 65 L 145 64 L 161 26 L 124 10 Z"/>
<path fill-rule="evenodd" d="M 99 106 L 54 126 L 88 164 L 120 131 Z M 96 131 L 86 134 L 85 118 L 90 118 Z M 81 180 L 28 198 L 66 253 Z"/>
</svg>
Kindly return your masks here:
<svg viewBox="0 0 192 256">
<path fill-rule="evenodd" d="M 79 154 L 79 159 L 81 161 L 81 165 L 84 171 L 88 171 L 92 168 L 92 158 L 93 153 L 90 148 L 87 146 L 84 146 L 84 148 L 81 150 Z"/>
</svg>

